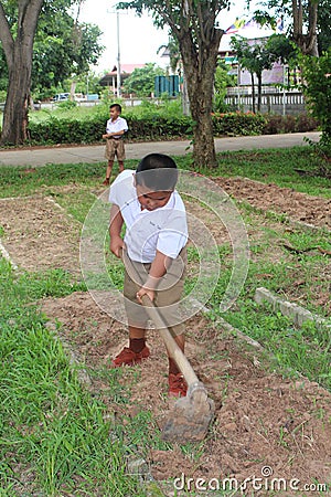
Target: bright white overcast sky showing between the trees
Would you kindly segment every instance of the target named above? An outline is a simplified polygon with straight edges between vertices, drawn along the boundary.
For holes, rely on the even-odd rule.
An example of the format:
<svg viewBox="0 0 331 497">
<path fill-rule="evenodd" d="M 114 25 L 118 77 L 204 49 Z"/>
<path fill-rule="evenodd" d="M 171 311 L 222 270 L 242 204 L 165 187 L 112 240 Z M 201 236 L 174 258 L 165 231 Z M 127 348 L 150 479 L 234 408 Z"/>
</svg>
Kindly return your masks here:
<svg viewBox="0 0 331 497">
<path fill-rule="evenodd" d="M 85 0 L 81 8 L 81 22 L 97 24 L 104 32 L 100 40 L 106 46 L 97 67 L 94 71 L 103 74 L 111 71 L 117 64 L 117 13 L 114 0 Z M 236 7 L 229 12 L 224 11 L 220 17 L 220 27 L 227 29 L 235 21 L 236 17 L 248 19 L 249 14 L 245 9 L 245 0 L 237 0 Z M 161 57 L 162 51 L 158 54 L 158 49 L 168 43 L 168 28 L 156 29 L 152 18 L 145 13 L 139 18 L 134 10 L 121 11 L 119 19 L 119 52 L 120 64 L 145 64 L 154 62 L 164 67 L 169 60 Z"/>
</svg>

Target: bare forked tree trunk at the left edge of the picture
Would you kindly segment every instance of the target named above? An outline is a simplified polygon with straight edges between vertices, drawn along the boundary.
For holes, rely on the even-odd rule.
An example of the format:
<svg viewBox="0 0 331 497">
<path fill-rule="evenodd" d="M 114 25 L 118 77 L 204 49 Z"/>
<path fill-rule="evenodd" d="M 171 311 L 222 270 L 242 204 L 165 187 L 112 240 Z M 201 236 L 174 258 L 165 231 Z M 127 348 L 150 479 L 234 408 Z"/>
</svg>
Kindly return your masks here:
<svg viewBox="0 0 331 497">
<path fill-rule="evenodd" d="M 26 139 L 33 39 L 43 1 L 21 0 L 18 2 L 19 14 L 15 40 L 12 38 L 2 4 L 0 3 L 0 40 L 9 73 L 1 145 L 20 145 Z"/>
</svg>

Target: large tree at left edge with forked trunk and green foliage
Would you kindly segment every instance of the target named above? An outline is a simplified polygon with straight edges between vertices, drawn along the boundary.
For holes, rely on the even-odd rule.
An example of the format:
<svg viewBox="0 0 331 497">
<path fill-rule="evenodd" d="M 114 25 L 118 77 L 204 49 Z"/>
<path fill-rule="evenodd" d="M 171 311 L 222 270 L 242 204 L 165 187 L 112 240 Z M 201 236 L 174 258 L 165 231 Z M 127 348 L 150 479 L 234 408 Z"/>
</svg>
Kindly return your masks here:
<svg viewBox="0 0 331 497">
<path fill-rule="evenodd" d="M 26 138 L 31 88 L 54 88 L 73 75 L 86 75 L 88 64 L 97 62 L 104 49 L 100 30 L 68 13 L 82 1 L 0 1 L 0 71 L 8 81 L 1 144 Z"/>
</svg>

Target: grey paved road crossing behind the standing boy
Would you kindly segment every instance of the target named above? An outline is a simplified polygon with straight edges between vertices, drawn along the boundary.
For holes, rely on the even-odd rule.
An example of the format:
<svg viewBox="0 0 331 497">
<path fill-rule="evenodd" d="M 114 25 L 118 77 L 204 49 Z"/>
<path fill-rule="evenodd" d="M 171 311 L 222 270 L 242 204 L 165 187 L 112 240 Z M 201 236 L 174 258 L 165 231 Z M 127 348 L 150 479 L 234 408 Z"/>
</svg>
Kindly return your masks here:
<svg viewBox="0 0 331 497">
<path fill-rule="evenodd" d="M 264 135 L 236 138 L 216 138 L 216 151 L 254 150 L 259 148 L 287 148 L 307 145 L 303 138 L 318 141 L 319 133 L 295 133 L 288 135 Z M 141 159 L 150 152 L 184 156 L 192 151 L 189 140 L 183 141 L 148 141 L 143 144 L 126 144 L 127 159 Z M 24 150 L 0 150 L 0 166 L 45 166 L 46 163 L 103 162 L 104 145 L 77 147 L 31 148 Z"/>
</svg>

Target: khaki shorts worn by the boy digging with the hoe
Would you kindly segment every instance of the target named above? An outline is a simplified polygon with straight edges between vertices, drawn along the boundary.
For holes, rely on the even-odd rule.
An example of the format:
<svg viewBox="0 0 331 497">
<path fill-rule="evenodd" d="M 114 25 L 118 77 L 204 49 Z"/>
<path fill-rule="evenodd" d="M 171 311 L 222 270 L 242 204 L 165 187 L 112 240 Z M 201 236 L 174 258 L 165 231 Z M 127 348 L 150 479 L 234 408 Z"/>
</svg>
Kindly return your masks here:
<svg viewBox="0 0 331 497">
<path fill-rule="evenodd" d="M 146 282 L 151 264 L 132 262 L 139 273 L 141 282 Z M 184 324 L 179 313 L 179 302 L 183 295 L 186 267 L 186 248 L 172 261 L 167 274 L 156 290 L 154 304 L 158 307 L 163 320 L 168 324 L 168 329 L 173 336 L 183 335 Z M 141 304 L 137 300 L 137 292 L 141 284 L 129 276 L 125 269 L 124 296 L 128 322 L 136 328 L 146 329 L 149 317 Z"/>
</svg>

